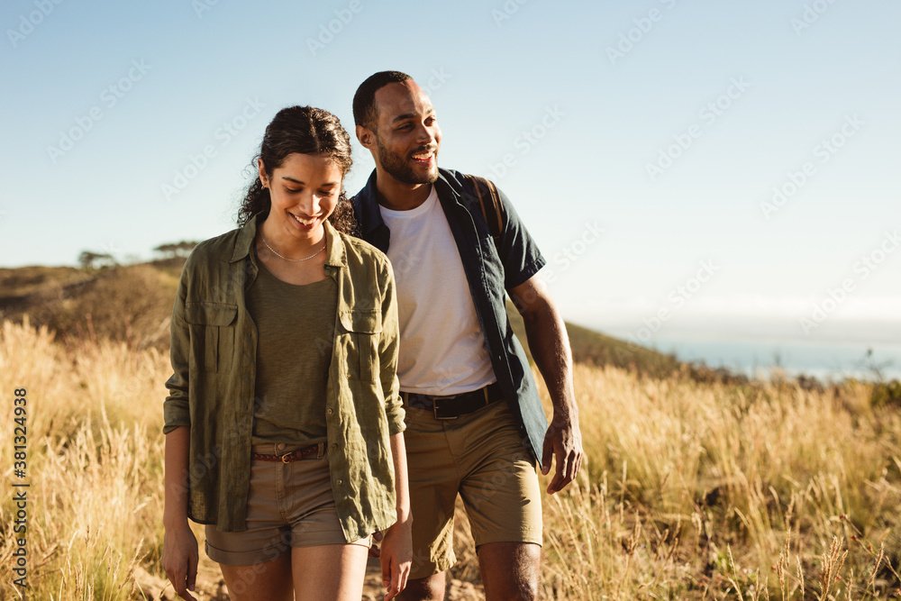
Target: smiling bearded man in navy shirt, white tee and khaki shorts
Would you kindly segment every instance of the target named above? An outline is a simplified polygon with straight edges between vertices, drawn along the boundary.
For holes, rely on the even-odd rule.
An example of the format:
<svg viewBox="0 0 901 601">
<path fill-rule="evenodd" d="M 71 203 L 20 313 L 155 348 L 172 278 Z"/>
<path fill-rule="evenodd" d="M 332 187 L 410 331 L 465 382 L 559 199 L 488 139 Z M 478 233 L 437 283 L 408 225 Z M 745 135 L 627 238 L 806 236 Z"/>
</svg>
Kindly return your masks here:
<svg viewBox="0 0 901 601">
<path fill-rule="evenodd" d="M 547 474 L 556 459 L 551 494 L 575 478 L 582 460 L 566 328 L 535 277 L 545 261 L 505 196 L 495 239 L 468 179 L 438 168 L 437 115 L 411 77 L 369 77 L 354 96 L 353 117 L 376 162 L 353 199 L 359 233 L 394 266 L 400 317 L 414 531 L 411 579 L 400 598 L 443 598 L 459 494 L 487 598 L 532 599 L 542 544 L 535 460 Z M 507 321 L 505 292 L 523 314 L 551 391 L 550 427 Z"/>
</svg>

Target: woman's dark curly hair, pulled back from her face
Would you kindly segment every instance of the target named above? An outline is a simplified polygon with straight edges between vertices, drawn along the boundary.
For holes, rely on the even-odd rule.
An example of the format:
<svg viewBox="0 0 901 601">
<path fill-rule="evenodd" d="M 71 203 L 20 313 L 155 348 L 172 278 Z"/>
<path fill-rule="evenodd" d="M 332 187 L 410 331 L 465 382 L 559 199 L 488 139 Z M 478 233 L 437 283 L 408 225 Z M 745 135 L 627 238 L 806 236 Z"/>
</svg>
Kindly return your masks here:
<svg viewBox="0 0 901 601">
<path fill-rule="evenodd" d="M 341 126 L 338 117 L 313 106 L 289 106 L 278 111 L 266 127 L 259 154 L 254 157 L 253 172 L 257 170 L 257 159 L 263 160 L 263 166 L 269 178 L 272 172 L 281 167 L 289 154 L 313 154 L 328 157 L 341 170 L 341 178 L 347 176 L 350 165 L 350 136 Z M 268 214 L 272 206 L 268 188 L 263 187 L 256 178 L 247 189 L 238 208 L 236 221 L 242 227 L 258 213 Z M 352 234 L 356 230 L 353 208 L 341 184 L 341 195 L 338 205 L 329 217 L 329 223 L 339 232 Z"/>
</svg>

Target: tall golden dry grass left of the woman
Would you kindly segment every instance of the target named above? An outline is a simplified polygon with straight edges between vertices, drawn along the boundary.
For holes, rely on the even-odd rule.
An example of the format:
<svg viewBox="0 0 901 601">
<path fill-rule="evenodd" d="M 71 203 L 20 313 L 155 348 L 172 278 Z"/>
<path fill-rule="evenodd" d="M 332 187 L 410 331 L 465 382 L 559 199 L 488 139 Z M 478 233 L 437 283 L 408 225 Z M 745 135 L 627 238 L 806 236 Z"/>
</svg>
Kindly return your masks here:
<svg viewBox="0 0 901 601">
<path fill-rule="evenodd" d="M 14 481 L 30 484 L 29 598 L 135 598 L 133 571 L 158 563 L 162 543 L 159 410 L 167 370 L 168 358 L 153 349 L 109 342 L 67 348 L 27 321 L 3 323 L 0 390 L 10 416 L 0 431 L 0 598 L 18 598 L 11 586 Z M 25 478 L 13 473 L 15 388 L 27 390 Z"/>
</svg>

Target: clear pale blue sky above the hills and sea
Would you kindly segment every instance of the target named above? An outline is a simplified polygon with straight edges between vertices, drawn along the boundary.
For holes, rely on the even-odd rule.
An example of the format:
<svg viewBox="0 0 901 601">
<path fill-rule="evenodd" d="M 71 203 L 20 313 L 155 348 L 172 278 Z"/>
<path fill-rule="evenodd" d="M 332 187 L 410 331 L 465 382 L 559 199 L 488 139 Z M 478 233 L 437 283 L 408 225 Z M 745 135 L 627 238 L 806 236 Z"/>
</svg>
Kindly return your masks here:
<svg viewBox="0 0 901 601">
<path fill-rule="evenodd" d="M 5 267 L 231 229 L 278 109 L 352 132 L 359 82 L 398 69 L 431 89 L 439 165 L 512 198 L 568 319 L 901 339 L 894 0 L 8 0 L 0 23 Z"/>
</svg>

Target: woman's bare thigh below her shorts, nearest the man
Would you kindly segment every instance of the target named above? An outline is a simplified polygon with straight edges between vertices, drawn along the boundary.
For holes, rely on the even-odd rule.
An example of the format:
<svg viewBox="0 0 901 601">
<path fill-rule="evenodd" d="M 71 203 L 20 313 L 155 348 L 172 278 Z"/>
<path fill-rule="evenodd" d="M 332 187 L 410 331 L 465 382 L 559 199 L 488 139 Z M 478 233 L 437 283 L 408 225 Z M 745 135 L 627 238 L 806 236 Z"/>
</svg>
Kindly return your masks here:
<svg viewBox="0 0 901 601">
<path fill-rule="evenodd" d="M 323 544 L 291 550 L 296 601 L 359 601 L 368 547 Z"/>
</svg>

